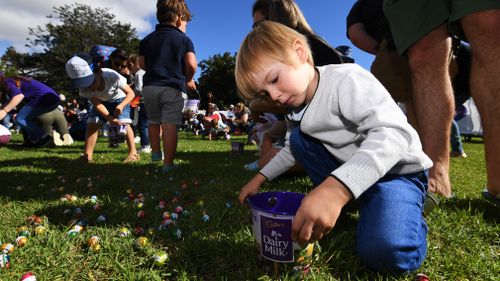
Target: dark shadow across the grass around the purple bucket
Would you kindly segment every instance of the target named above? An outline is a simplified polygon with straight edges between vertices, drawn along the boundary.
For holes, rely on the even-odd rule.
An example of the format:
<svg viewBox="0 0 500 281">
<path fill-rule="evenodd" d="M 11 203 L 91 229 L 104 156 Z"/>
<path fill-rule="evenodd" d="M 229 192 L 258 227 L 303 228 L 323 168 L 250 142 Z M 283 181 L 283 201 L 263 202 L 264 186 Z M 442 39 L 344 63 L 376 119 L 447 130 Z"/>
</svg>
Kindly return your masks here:
<svg viewBox="0 0 500 281">
<path fill-rule="evenodd" d="M 51 227 L 63 233 L 78 221 L 87 224 L 88 232 L 99 228 L 113 236 L 121 226 L 132 231 L 143 229 L 143 235 L 148 236 L 155 246 L 168 248 L 175 256 L 169 262 L 169 267 L 177 271 L 174 278 L 175 274 L 203 277 L 203 280 L 220 280 L 221 277 L 256 280 L 263 275 L 273 276 L 272 263 L 259 258 L 251 231 L 248 231 L 250 209 L 237 203 L 241 186 L 254 174 L 242 168 L 249 160 L 255 159 L 252 156 L 254 151 L 234 155 L 229 151 L 180 150 L 176 155 L 178 169 L 162 175 L 159 172 L 161 164 L 151 164 L 149 159 L 122 164 L 121 157 L 126 153 L 123 149 L 119 153 L 110 153 L 101 146 L 96 150 L 96 162 L 91 165 L 72 160 L 79 155 L 80 149 L 81 146 L 41 151 L 26 149 L 26 153 L 44 152 L 45 155 L 26 154 L 27 157 L 21 159 L 0 161 L 0 198 L 37 201 L 33 204 L 36 206 L 33 213 L 47 216 Z M 23 152 L 24 149 L 16 151 Z M 308 182 L 302 178 L 283 179 L 266 188 L 307 190 Z M 143 194 L 142 208 L 137 208 L 130 200 L 133 196 L 129 197 L 129 189 L 135 195 Z M 60 198 L 65 194 L 79 199 L 63 202 Z M 92 195 L 97 196 L 101 205 L 97 210 L 88 201 Z M 160 200 L 166 202 L 164 209 L 159 209 Z M 178 206 L 188 214 L 181 213 L 175 224 L 159 230 L 164 222 L 164 212 L 172 214 Z M 140 211 L 145 212 L 144 218 L 138 217 Z M 202 220 L 205 214 L 209 216 L 208 222 Z M 101 215 L 106 220 L 99 223 Z M 345 279 L 356 273 L 367 276 L 366 279 L 378 276 L 357 261 L 354 253 L 356 222 L 355 215 L 341 216 L 334 231 L 321 242 L 322 258 L 318 262 L 324 264 L 316 268 Z M 177 237 L 178 230 L 181 238 Z M 290 274 L 291 266 L 282 266 L 282 269 L 282 274 Z"/>
</svg>

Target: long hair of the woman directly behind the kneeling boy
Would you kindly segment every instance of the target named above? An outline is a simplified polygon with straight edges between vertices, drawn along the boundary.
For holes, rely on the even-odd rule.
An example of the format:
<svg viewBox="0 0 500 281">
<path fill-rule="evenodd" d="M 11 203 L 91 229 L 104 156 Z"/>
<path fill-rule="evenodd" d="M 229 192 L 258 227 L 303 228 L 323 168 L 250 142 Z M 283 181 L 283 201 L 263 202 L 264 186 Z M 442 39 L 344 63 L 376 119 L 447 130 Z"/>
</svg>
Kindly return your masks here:
<svg viewBox="0 0 500 281">
<path fill-rule="evenodd" d="M 299 6 L 293 0 L 257 0 L 252 16 L 261 12 L 267 20 L 282 23 L 304 35 L 314 34 Z"/>
</svg>

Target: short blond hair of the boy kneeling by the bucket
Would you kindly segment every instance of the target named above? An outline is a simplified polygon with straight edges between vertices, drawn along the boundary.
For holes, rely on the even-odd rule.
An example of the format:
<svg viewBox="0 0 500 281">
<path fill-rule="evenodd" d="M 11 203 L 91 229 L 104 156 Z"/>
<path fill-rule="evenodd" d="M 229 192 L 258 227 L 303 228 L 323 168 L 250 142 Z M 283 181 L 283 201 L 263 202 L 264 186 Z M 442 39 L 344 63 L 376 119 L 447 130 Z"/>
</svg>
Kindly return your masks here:
<svg viewBox="0 0 500 281">
<path fill-rule="evenodd" d="M 298 64 L 293 47 L 296 40 L 304 44 L 307 62 L 314 65 L 307 38 L 283 24 L 265 21 L 245 37 L 236 56 L 234 70 L 238 92 L 243 99 L 252 100 L 258 96 L 253 74 L 263 70 L 270 60 L 290 66 Z"/>
</svg>

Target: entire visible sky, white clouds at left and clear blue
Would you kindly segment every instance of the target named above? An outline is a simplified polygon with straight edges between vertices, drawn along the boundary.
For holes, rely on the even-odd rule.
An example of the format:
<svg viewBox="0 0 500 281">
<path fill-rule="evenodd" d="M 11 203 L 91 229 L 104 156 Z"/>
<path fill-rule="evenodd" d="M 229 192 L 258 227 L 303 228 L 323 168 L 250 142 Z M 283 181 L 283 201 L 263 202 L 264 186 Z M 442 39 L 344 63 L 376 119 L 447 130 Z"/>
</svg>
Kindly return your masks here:
<svg viewBox="0 0 500 281">
<path fill-rule="evenodd" d="M 0 54 L 12 45 L 16 46 L 18 51 L 29 51 L 23 49 L 25 38 L 28 37 L 27 28 L 36 25 L 45 26 L 48 21 L 46 16 L 51 14 L 52 7 L 67 3 L 79 1 L 93 7 L 107 5 L 117 20 L 128 22 L 135 27 L 140 38 L 151 32 L 156 24 L 156 0 L 46 0 L 37 2 L 36 7 L 33 7 L 31 0 L 0 0 L 0 3 L 3 1 L 10 3 L 2 5 L 4 14 L 11 14 L 17 19 L 23 14 L 24 18 L 29 20 L 21 22 L 15 20 L 15 24 L 12 24 L 14 21 L 8 16 L 0 19 L 0 26 L 3 26 L 0 30 Z M 198 61 L 226 51 L 235 53 L 251 29 L 251 8 L 254 0 L 186 1 L 194 16 L 188 25 L 187 34 L 193 40 Z M 369 69 L 373 56 L 354 47 L 345 36 L 345 18 L 355 0 L 296 0 L 296 2 L 316 33 L 332 46 L 351 46 L 352 56 L 356 62 Z M 197 71 L 195 78 L 199 74 Z"/>
</svg>

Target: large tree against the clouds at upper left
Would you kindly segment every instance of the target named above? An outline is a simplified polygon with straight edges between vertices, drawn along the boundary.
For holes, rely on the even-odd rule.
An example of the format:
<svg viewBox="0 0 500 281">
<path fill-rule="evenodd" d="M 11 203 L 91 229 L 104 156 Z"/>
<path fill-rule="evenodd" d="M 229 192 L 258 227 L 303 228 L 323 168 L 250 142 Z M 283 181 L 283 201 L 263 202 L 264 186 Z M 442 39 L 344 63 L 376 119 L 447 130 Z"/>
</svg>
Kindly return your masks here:
<svg viewBox="0 0 500 281">
<path fill-rule="evenodd" d="M 27 38 L 26 44 L 43 52 L 21 54 L 23 63 L 16 67 L 57 91 L 64 92 L 69 88 L 64 65 L 75 53 L 88 52 L 94 45 L 110 45 L 137 52 L 139 39 L 135 28 L 117 22 L 108 9 L 93 9 L 84 4 L 64 5 L 54 7 L 54 14 L 48 18 L 57 19 L 59 23 L 29 28 L 30 38 Z M 2 61 L 6 64 L 17 63 L 16 52 L 13 51 L 9 55 L 8 50 Z M 7 59 L 14 61 L 7 62 Z"/>
</svg>

